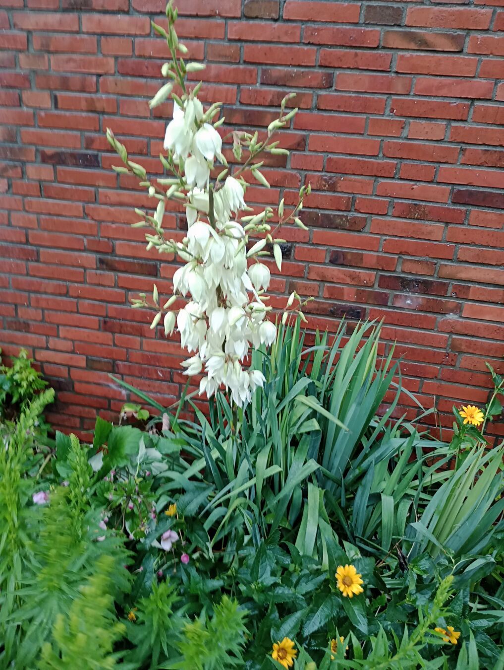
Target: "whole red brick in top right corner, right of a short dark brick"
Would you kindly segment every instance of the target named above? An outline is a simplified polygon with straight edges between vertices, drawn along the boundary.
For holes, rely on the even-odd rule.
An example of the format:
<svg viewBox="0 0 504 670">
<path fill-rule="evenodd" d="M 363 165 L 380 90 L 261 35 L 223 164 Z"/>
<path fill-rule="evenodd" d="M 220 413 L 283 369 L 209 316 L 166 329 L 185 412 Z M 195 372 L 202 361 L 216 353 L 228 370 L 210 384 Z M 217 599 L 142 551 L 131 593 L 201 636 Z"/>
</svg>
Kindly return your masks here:
<svg viewBox="0 0 504 670">
<path fill-rule="evenodd" d="M 465 7 L 410 7 L 406 13 L 406 25 L 422 27 L 470 30 L 485 30 L 492 18 L 491 9 L 466 9 Z"/>
</svg>

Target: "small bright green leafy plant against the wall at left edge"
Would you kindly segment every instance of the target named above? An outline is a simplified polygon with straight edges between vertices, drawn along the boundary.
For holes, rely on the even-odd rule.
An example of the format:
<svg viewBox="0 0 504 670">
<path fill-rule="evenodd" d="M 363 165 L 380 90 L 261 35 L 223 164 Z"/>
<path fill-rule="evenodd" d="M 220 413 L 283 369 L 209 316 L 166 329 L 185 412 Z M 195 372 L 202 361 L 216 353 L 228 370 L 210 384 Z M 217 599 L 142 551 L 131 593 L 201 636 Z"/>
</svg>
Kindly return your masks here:
<svg viewBox="0 0 504 670">
<path fill-rule="evenodd" d="M 11 356 L 11 362 L 10 367 L 0 365 L 0 414 L 9 405 L 17 405 L 23 410 L 48 384 L 31 367 L 34 361 L 28 358 L 25 349 L 21 349 L 18 356 Z"/>
</svg>

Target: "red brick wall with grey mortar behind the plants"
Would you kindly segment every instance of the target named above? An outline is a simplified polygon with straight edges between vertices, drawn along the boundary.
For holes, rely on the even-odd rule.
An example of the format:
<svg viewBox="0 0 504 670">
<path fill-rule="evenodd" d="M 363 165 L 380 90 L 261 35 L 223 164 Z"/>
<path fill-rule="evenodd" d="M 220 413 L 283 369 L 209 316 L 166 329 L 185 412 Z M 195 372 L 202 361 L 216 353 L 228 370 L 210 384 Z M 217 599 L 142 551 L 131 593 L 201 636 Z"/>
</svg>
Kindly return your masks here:
<svg viewBox="0 0 504 670">
<path fill-rule="evenodd" d="M 178 4 L 191 59 L 208 62 L 203 96 L 228 123 L 264 128 L 297 91 L 288 167 L 264 170 L 270 193 L 250 189 L 276 203 L 313 188 L 274 290 L 315 297 L 312 326 L 384 318 L 404 384 L 426 406 L 435 396 L 446 425 L 452 399 L 483 403 L 484 361 L 503 369 L 504 354 L 504 0 Z M 163 5 L 0 0 L 0 342 L 35 356 L 67 428 L 116 416 L 108 372 L 164 403 L 179 393 L 176 342 L 127 305 L 153 281 L 169 293 L 173 265 L 129 228 L 152 203 L 110 170 L 104 139 L 110 127 L 159 170 L 169 110 L 147 99 Z"/>
</svg>

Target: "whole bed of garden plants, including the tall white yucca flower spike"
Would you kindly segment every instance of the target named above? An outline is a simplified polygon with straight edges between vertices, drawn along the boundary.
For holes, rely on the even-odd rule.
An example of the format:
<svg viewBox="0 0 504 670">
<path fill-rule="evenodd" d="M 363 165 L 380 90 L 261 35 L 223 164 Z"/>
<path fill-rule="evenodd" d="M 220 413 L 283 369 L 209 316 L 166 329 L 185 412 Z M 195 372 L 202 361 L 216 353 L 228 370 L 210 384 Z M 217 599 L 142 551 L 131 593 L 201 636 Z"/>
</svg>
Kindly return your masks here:
<svg viewBox="0 0 504 670">
<path fill-rule="evenodd" d="M 280 202 L 276 215 L 231 215 L 246 209 L 248 170 L 265 182 L 259 152 L 284 153 L 272 133 L 294 111 L 282 106 L 264 140 L 232 133 L 243 159 L 230 176 L 218 106 L 205 111 L 199 84 L 185 88 L 201 66 L 179 58 L 176 17 L 169 4 L 167 29 L 155 27 L 173 81 L 151 101 L 174 100 L 169 176 L 152 184 L 108 138 L 116 170 L 157 200 L 154 216 L 138 210 L 149 246 L 184 263 L 163 306 L 153 291 L 152 328 L 177 325 L 208 411 L 184 393 L 171 413 L 119 381 L 159 412 L 151 429 L 98 417 L 92 444 L 56 433 L 41 447 L 33 426 L 51 391 L 4 421 L 0 667 L 502 669 L 503 446 L 483 433 L 503 379 L 491 371 L 487 407 L 454 409 L 445 444 L 392 421 L 400 370 L 393 352 L 378 356 L 379 324 L 305 344 L 296 294 L 278 327 L 268 320 L 259 259 L 271 244 L 281 267 L 274 235 L 303 226 L 307 191 L 292 212 Z M 179 241 L 162 226 L 173 199 L 189 224 Z M 122 415 L 147 410 L 128 403 Z"/>
</svg>

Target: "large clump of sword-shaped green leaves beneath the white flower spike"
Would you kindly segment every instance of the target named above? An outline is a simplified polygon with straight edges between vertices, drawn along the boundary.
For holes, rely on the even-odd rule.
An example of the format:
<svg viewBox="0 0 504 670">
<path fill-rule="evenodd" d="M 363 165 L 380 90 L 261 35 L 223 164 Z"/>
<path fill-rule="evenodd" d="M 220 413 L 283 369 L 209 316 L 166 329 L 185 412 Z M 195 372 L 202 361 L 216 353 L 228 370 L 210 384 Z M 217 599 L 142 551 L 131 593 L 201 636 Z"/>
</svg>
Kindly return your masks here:
<svg viewBox="0 0 504 670">
<path fill-rule="evenodd" d="M 400 421 L 390 426 L 400 385 L 377 415 L 398 371 L 392 352 L 379 360 L 379 338 L 377 324 L 348 338 L 342 324 L 331 344 L 316 334 L 305 347 L 299 320 L 280 325 L 270 352 L 254 350 L 266 384 L 245 411 L 234 414 L 220 395 L 209 419 L 193 405 L 197 422 L 178 421 L 193 460 L 163 473 L 161 490 L 183 489 L 179 507 L 198 510 L 209 547 L 258 546 L 282 526 L 301 553 L 327 565 L 334 519 L 378 553 L 402 537 L 418 507 L 424 440 L 409 426 L 403 436 Z"/>
</svg>

